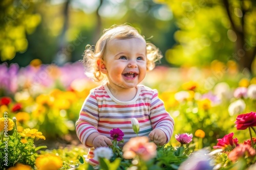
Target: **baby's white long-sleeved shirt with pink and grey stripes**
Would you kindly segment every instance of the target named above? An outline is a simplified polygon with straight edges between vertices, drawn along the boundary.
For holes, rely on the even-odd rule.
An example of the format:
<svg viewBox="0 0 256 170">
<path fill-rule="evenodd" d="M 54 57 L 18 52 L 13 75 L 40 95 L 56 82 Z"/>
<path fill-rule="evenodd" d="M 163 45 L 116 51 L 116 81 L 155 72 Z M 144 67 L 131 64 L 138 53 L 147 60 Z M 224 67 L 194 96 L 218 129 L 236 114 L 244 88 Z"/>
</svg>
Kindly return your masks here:
<svg viewBox="0 0 256 170">
<path fill-rule="evenodd" d="M 119 128 L 124 133 L 123 139 L 126 143 L 130 138 L 137 136 L 131 124 L 133 117 L 138 119 L 140 125 L 139 136 L 148 136 L 157 128 L 165 133 L 167 143 L 173 135 L 174 119 L 166 112 L 163 102 L 158 98 L 157 90 L 138 85 L 135 98 L 121 102 L 112 95 L 106 84 L 90 91 L 76 122 L 76 133 L 86 145 L 90 134 L 98 132 L 112 139 L 110 131 Z M 86 147 L 92 148 L 88 145 Z M 92 152 L 91 154 L 93 156 Z"/>
</svg>

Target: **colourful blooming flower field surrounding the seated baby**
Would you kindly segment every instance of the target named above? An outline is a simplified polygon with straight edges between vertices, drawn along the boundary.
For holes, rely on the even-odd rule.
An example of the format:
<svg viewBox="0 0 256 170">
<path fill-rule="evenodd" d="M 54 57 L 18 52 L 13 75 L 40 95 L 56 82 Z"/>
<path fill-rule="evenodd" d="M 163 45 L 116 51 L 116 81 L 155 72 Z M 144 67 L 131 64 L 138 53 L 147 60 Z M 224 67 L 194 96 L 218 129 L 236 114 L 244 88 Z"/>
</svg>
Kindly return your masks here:
<svg viewBox="0 0 256 170">
<path fill-rule="evenodd" d="M 93 169 L 75 135 L 81 105 L 98 86 L 83 69 L 37 59 L 0 65 L 0 169 Z M 173 116 L 172 139 L 159 147 L 136 137 L 121 149 L 122 132 L 113 129 L 113 146 L 95 156 L 98 169 L 256 169 L 255 75 L 215 60 L 202 68 L 158 66 L 142 83 L 159 91 Z M 131 126 L 139 133 L 136 120 Z M 49 147 L 66 136 L 65 147 Z"/>
</svg>

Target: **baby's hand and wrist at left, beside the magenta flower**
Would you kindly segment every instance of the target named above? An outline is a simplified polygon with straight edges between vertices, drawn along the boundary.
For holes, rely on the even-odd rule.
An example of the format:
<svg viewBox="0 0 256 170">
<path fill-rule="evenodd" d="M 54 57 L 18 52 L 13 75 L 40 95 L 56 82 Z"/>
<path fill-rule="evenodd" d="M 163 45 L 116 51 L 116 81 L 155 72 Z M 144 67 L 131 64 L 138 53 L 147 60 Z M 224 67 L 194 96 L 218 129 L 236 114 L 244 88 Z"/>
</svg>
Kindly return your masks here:
<svg viewBox="0 0 256 170">
<path fill-rule="evenodd" d="M 94 148 L 108 147 L 109 145 L 112 145 L 112 142 L 108 137 L 94 132 L 88 136 L 86 145 L 92 146 Z"/>
</svg>

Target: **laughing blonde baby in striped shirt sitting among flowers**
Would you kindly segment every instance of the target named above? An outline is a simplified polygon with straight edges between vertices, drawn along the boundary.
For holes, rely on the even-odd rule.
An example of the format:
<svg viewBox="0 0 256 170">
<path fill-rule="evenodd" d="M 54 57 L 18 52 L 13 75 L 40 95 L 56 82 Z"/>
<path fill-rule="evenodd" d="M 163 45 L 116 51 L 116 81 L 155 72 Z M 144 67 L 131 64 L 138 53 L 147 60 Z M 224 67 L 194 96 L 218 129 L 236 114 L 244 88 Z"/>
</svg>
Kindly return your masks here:
<svg viewBox="0 0 256 170">
<path fill-rule="evenodd" d="M 139 84 L 160 58 L 158 48 L 129 25 L 104 30 L 95 49 L 87 45 L 82 60 L 86 75 L 103 82 L 90 91 L 76 122 L 78 138 L 90 148 L 87 160 L 91 164 L 96 164 L 90 159 L 95 148 L 112 145 L 113 128 L 122 130 L 124 143 L 137 136 L 131 124 L 133 117 L 140 124 L 138 136 L 148 136 L 159 145 L 170 140 L 174 119 L 157 90 Z"/>
</svg>

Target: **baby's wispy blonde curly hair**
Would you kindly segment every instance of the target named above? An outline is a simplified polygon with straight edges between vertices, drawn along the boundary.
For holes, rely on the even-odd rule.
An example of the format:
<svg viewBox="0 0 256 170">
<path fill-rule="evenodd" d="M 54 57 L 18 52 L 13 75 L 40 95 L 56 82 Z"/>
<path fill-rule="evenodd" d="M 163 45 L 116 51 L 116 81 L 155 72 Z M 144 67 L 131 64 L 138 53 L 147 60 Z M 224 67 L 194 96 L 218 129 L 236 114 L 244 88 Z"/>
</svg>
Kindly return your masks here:
<svg viewBox="0 0 256 170">
<path fill-rule="evenodd" d="M 104 60 L 106 43 L 112 39 L 130 39 L 130 38 L 143 38 L 140 32 L 134 27 L 124 25 L 114 25 L 109 29 L 103 30 L 103 35 L 99 38 L 95 45 L 86 45 L 86 50 L 83 53 L 82 64 L 86 68 L 85 74 L 93 81 L 100 82 L 106 79 L 106 76 L 100 72 L 97 61 L 99 59 Z M 146 67 L 147 70 L 152 70 L 155 67 L 155 63 L 160 61 L 162 54 L 154 44 L 146 42 Z"/>
</svg>

